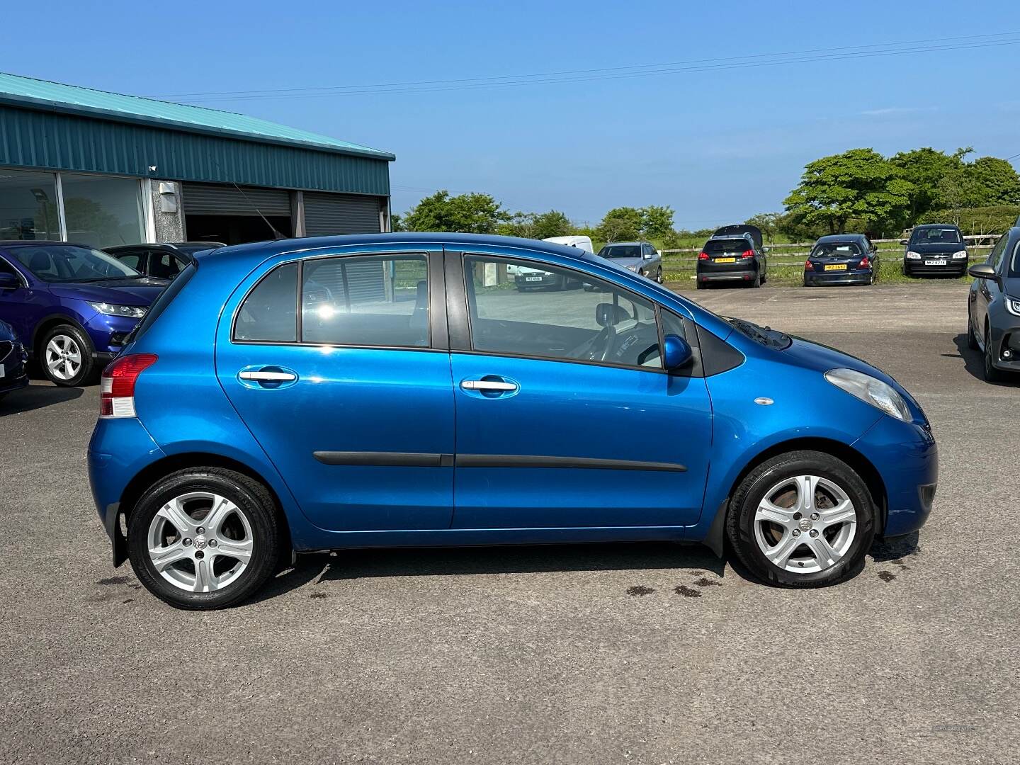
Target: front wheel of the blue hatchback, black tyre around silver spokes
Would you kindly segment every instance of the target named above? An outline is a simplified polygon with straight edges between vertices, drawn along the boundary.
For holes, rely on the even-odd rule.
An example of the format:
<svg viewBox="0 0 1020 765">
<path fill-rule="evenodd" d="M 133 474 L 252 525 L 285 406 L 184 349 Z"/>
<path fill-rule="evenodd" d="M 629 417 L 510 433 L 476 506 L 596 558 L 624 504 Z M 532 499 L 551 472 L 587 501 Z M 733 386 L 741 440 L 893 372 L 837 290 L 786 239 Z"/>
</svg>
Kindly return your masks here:
<svg viewBox="0 0 1020 765">
<path fill-rule="evenodd" d="M 815 528 L 815 524 L 824 523 L 825 518 L 812 520 L 814 516 L 810 513 L 795 514 L 801 494 L 801 483 L 796 480 L 798 476 L 820 479 L 811 505 L 819 511 L 819 515 L 837 506 L 834 503 L 843 498 L 852 503 L 853 518 Z M 790 492 L 794 493 L 794 502 L 787 508 L 785 500 Z M 826 502 L 818 502 L 819 497 Z M 771 499 L 776 517 L 787 519 L 781 534 L 778 529 L 782 525 L 772 524 L 767 519 L 756 520 L 759 506 L 766 499 Z M 786 513 L 786 509 L 790 512 Z M 833 518 L 838 515 L 831 513 Z M 874 503 L 867 486 L 847 463 L 824 452 L 789 452 L 766 460 L 741 481 L 729 501 L 726 538 L 748 571 L 767 584 L 826 586 L 853 576 L 860 569 L 875 536 L 875 517 Z M 821 533 L 811 537 L 812 531 Z M 829 534 L 832 534 L 831 539 Z M 821 546 L 819 539 L 826 545 Z M 783 567 L 780 568 L 766 556 L 769 542 L 774 543 L 771 549 L 775 552 L 770 553 L 773 557 L 779 556 L 782 560 L 781 556 L 785 555 L 788 558 Z M 828 552 L 819 557 L 809 546 L 818 546 Z M 837 558 L 834 557 L 836 554 Z M 801 567 L 805 568 L 804 573 L 800 572 Z"/>
</svg>

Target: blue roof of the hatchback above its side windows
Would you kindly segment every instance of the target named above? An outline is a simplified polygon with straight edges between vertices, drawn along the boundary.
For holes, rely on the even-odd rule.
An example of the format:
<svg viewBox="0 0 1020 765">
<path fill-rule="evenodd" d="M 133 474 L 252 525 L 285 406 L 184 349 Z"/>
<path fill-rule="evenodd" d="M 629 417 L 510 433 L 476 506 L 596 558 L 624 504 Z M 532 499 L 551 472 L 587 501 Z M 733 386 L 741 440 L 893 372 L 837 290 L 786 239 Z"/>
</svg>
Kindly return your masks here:
<svg viewBox="0 0 1020 765">
<path fill-rule="evenodd" d="M 252 242 L 244 245 L 231 245 L 216 250 L 196 253 L 196 259 L 201 263 L 209 257 L 215 257 L 217 262 L 238 261 L 239 264 L 254 265 L 262 260 L 289 252 L 304 250 L 323 250 L 341 247 L 357 247 L 363 245 L 445 245 L 452 249 L 458 246 L 475 247 L 508 247 L 528 249 L 532 252 L 544 252 L 550 255 L 583 260 L 592 253 L 576 247 L 544 242 L 541 239 L 522 239 L 519 237 L 496 237 L 487 234 L 451 234 L 451 233 L 418 233 L 402 232 L 399 234 L 351 234 L 338 237 L 306 237 L 304 239 L 280 239 L 266 242 Z"/>
</svg>

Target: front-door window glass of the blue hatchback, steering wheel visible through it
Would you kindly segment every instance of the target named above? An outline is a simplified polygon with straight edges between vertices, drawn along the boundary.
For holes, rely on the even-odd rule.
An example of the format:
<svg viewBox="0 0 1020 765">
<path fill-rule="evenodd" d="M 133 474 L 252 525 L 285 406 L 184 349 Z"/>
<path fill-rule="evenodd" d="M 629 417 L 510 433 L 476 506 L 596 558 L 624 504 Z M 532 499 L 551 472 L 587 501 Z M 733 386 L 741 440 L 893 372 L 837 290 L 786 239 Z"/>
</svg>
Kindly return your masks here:
<svg viewBox="0 0 1020 765">
<path fill-rule="evenodd" d="M 526 260 L 472 255 L 464 267 L 474 350 L 662 367 L 651 301 Z"/>
</svg>

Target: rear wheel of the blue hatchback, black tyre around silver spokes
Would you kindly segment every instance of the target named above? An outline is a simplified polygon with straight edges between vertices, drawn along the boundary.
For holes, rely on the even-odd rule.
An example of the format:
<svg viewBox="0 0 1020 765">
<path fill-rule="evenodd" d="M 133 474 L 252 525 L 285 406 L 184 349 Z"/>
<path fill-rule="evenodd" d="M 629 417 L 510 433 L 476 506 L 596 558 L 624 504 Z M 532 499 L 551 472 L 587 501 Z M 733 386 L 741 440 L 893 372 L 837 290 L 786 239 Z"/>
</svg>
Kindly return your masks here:
<svg viewBox="0 0 1020 765">
<path fill-rule="evenodd" d="M 217 528 L 205 528 L 203 521 L 220 499 L 233 509 L 226 508 Z M 166 508 L 171 511 L 164 515 Z M 150 543 L 174 551 L 173 562 L 161 566 L 165 573 L 157 569 Z M 232 544 L 239 556 L 247 551 L 247 562 L 217 554 Z M 282 529 L 268 490 L 247 475 L 218 467 L 167 475 L 142 496 L 128 519 L 128 556 L 135 575 L 174 608 L 225 608 L 251 597 L 276 571 L 280 545 Z M 198 566 L 208 577 L 203 582 L 196 581 Z"/>
</svg>

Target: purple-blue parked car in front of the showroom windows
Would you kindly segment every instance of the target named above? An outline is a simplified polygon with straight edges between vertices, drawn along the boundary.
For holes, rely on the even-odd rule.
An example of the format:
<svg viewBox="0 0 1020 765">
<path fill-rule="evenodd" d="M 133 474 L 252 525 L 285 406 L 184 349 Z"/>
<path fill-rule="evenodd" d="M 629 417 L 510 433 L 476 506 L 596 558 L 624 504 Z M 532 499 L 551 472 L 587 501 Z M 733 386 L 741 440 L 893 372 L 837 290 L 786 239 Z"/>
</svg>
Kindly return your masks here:
<svg viewBox="0 0 1020 765">
<path fill-rule="evenodd" d="M 92 381 L 166 279 L 67 242 L 0 242 L 0 319 L 58 386 Z"/>
</svg>

